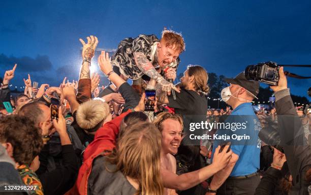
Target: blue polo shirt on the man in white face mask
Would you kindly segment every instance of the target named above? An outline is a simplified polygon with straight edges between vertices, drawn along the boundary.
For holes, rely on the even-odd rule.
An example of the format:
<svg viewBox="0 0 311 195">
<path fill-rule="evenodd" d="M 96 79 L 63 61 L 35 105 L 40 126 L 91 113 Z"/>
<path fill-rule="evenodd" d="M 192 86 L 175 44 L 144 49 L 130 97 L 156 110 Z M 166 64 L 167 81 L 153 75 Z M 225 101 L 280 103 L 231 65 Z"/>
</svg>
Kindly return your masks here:
<svg viewBox="0 0 311 195">
<path fill-rule="evenodd" d="M 260 146 L 261 141 L 258 133 L 261 130 L 260 122 L 255 114 L 252 103 L 242 103 L 237 106 L 226 119 L 225 123 L 244 123 L 244 129 L 233 129 L 223 131 L 217 130 L 217 135 L 228 135 L 235 137 L 235 135 L 248 135 L 250 139 L 230 140 L 232 151 L 239 156 L 230 176 L 250 175 L 257 172 L 259 169 Z M 234 130 L 234 131 L 233 131 Z M 234 136 L 232 136 L 235 134 Z M 215 148 L 220 145 L 223 140 L 214 140 L 212 158 Z"/>
</svg>

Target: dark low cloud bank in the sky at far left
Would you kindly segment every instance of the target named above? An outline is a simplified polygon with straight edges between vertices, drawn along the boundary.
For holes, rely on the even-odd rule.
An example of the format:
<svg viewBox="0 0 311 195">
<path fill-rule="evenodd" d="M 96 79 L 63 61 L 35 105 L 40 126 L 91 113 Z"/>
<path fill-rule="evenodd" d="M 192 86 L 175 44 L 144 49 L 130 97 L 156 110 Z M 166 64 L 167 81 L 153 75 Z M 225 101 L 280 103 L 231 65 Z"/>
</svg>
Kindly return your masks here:
<svg viewBox="0 0 311 195">
<path fill-rule="evenodd" d="M 5 69 L 12 69 L 15 63 L 17 63 L 18 71 L 25 72 L 47 71 L 52 68 L 52 63 L 46 55 L 38 55 L 36 58 L 31 58 L 28 56 L 8 57 L 5 54 L 0 54 L 0 65 L 4 65 Z"/>
</svg>

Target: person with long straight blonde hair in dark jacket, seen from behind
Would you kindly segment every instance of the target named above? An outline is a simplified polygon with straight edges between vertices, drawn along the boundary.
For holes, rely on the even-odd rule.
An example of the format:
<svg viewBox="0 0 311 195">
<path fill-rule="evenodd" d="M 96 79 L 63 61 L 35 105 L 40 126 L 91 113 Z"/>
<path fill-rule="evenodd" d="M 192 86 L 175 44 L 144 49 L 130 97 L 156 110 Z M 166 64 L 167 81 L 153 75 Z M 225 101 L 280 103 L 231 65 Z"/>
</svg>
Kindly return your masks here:
<svg viewBox="0 0 311 195">
<path fill-rule="evenodd" d="M 161 133 L 152 124 L 128 126 L 114 152 L 94 160 L 87 194 L 162 195 Z"/>
</svg>

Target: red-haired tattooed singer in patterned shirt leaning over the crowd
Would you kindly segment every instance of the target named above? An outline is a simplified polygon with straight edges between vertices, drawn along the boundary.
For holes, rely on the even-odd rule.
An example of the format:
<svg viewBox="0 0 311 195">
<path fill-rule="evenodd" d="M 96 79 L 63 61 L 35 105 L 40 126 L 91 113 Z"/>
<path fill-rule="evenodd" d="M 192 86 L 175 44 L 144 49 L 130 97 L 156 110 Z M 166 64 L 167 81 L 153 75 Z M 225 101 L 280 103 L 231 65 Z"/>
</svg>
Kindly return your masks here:
<svg viewBox="0 0 311 195">
<path fill-rule="evenodd" d="M 164 69 L 169 67 L 165 72 L 167 79 L 175 79 L 180 61 L 178 56 L 184 49 L 182 36 L 174 31 L 164 30 L 161 40 L 153 34 L 140 34 L 136 38 L 122 40 L 111 63 L 119 75 L 133 81 L 139 81 L 141 77 L 144 80 L 151 78 L 160 84 L 163 91 L 171 91 L 176 88 L 164 79 Z"/>
</svg>

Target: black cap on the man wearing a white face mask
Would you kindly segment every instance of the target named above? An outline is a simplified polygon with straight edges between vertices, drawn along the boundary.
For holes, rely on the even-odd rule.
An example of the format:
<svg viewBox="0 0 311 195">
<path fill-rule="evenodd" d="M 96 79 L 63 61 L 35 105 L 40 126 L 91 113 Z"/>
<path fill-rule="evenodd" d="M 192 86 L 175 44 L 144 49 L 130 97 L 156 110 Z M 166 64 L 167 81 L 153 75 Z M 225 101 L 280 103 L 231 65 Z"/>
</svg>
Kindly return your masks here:
<svg viewBox="0 0 311 195">
<path fill-rule="evenodd" d="M 257 96 L 259 93 L 259 82 L 247 80 L 244 76 L 244 72 L 239 73 L 233 79 L 225 78 L 225 82 L 239 85 L 247 91 L 251 92 L 254 96 Z"/>
</svg>

